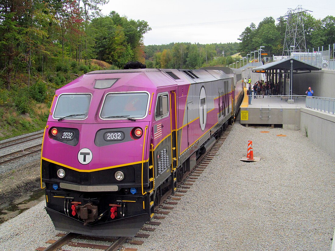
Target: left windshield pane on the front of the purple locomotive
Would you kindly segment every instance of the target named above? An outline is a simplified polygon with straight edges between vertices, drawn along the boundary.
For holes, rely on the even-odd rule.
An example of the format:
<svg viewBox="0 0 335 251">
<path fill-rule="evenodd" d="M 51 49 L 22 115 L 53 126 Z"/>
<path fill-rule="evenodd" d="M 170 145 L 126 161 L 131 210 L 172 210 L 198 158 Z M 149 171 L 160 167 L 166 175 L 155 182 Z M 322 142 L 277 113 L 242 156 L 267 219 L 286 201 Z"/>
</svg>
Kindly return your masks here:
<svg viewBox="0 0 335 251">
<path fill-rule="evenodd" d="M 62 94 L 58 97 L 53 118 L 84 119 L 90 102 L 90 94 Z"/>
</svg>

